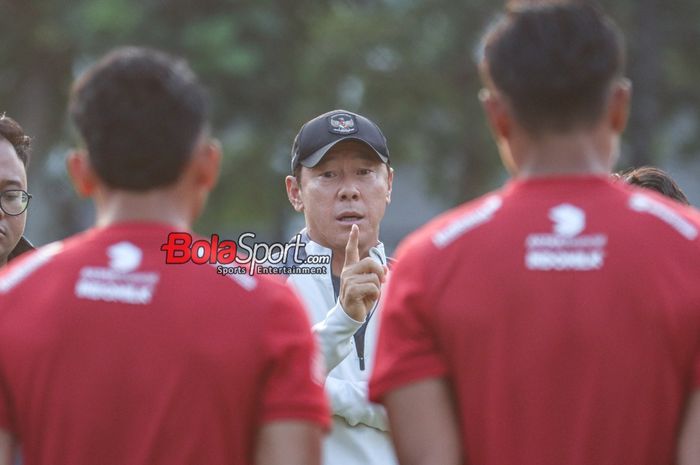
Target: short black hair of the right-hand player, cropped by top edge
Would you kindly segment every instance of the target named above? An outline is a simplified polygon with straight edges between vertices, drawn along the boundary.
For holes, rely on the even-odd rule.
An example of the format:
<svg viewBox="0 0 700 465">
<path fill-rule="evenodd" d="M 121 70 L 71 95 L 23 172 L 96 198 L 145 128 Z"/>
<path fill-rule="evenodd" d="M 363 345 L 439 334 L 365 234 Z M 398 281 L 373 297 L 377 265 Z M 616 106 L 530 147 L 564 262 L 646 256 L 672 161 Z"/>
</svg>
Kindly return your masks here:
<svg viewBox="0 0 700 465">
<path fill-rule="evenodd" d="M 511 1 L 484 34 L 480 70 L 533 134 L 593 125 L 624 72 L 615 23 L 584 0 Z"/>
</svg>

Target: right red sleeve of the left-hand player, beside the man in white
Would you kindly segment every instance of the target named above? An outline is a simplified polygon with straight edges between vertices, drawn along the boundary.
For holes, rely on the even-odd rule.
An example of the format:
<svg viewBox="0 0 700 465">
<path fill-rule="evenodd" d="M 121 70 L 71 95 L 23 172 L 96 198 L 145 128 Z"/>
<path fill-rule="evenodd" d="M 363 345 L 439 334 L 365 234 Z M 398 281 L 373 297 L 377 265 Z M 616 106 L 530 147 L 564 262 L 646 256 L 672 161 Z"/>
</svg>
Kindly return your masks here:
<svg viewBox="0 0 700 465">
<path fill-rule="evenodd" d="M 275 284 L 273 308 L 265 322 L 266 370 L 261 391 L 261 422 L 306 420 L 330 427 L 323 390 L 323 360 L 311 324 L 296 295 Z"/>
</svg>

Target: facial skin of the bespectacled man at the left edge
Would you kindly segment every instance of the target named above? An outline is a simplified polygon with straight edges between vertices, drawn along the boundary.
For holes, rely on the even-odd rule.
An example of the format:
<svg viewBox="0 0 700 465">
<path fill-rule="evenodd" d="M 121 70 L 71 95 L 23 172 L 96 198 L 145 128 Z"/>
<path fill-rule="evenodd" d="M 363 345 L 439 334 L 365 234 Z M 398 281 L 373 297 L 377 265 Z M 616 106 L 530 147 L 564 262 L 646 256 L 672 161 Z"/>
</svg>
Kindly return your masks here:
<svg viewBox="0 0 700 465">
<path fill-rule="evenodd" d="M 27 190 L 27 172 L 12 144 L 0 136 L 0 192 L 8 189 Z M 22 237 L 26 221 L 26 211 L 10 216 L 0 210 L 0 266 Z"/>
</svg>

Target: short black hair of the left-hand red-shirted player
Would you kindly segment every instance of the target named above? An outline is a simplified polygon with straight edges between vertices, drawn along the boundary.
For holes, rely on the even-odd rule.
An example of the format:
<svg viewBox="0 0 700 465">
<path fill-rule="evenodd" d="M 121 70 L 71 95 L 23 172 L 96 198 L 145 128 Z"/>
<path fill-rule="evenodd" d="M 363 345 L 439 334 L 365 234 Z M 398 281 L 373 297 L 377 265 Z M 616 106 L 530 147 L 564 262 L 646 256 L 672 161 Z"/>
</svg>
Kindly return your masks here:
<svg viewBox="0 0 700 465">
<path fill-rule="evenodd" d="M 209 108 L 187 62 L 127 47 L 109 53 L 75 83 L 69 111 L 102 181 L 145 191 L 180 177 Z"/>
</svg>

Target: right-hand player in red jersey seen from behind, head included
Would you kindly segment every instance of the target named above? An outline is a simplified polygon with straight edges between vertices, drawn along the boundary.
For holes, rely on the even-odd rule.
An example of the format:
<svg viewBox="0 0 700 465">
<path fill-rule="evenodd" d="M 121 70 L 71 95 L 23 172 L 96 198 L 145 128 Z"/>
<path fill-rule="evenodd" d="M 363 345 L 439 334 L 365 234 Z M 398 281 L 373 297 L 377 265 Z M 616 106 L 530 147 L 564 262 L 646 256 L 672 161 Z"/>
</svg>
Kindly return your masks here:
<svg viewBox="0 0 700 465">
<path fill-rule="evenodd" d="M 587 2 L 518 2 L 482 47 L 513 179 L 398 253 L 370 394 L 400 462 L 697 465 L 700 219 L 610 176 L 621 34 Z"/>
</svg>

